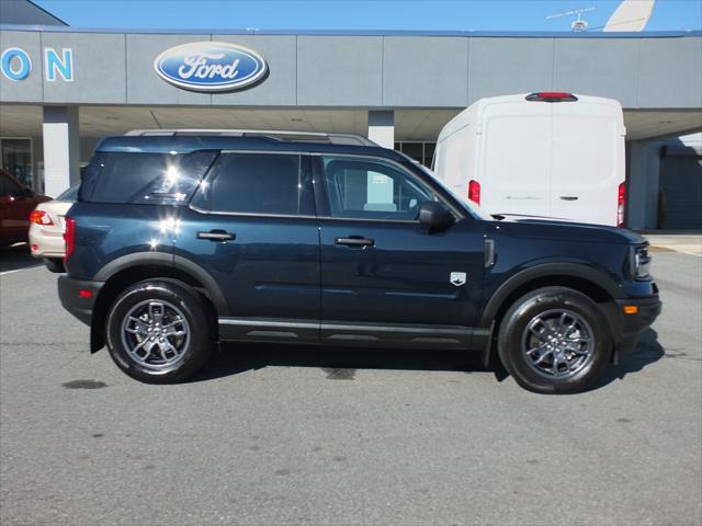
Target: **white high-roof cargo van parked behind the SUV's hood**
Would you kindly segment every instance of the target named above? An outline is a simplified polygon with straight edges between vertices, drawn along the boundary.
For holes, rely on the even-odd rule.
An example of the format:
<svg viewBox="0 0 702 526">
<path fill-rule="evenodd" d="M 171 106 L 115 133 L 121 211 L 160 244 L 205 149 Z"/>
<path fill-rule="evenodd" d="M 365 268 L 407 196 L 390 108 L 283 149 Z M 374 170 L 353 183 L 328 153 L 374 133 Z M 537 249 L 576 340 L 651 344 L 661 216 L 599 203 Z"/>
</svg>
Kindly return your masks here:
<svg viewBox="0 0 702 526">
<path fill-rule="evenodd" d="M 623 226 L 625 135 L 612 99 L 482 99 L 443 127 L 433 169 L 490 214 Z"/>
</svg>

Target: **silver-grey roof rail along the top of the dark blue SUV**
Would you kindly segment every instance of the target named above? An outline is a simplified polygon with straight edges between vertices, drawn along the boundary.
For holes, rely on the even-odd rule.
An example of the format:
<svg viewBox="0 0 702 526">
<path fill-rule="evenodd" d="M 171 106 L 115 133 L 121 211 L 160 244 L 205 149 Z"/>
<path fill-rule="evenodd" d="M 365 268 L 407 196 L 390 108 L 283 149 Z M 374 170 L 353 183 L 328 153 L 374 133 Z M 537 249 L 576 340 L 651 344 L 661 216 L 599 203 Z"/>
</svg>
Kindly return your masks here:
<svg viewBox="0 0 702 526">
<path fill-rule="evenodd" d="M 324 132 L 288 132 L 280 129 L 208 129 L 208 128 L 168 128 L 168 129 L 133 129 L 128 136 L 193 136 L 213 135 L 219 137 L 268 137 L 282 141 L 328 142 L 331 145 L 378 146 L 365 137 L 355 134 L 327 134 Z"/>
</svg>

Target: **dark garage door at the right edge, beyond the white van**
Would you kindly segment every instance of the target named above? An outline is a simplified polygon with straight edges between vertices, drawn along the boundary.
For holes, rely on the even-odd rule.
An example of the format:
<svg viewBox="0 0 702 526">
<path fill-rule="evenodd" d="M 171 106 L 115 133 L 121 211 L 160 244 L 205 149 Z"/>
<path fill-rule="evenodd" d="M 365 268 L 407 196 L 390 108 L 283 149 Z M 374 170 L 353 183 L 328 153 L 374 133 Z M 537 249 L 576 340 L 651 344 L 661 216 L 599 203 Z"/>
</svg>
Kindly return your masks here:
<svg viewBox="0 0 702 526">
<path fill-rule="evenodd" d="M 660 159 L 660 221 L 666 230 L 702 230 L 702 155 L 665 148 Z"/>
</svg>

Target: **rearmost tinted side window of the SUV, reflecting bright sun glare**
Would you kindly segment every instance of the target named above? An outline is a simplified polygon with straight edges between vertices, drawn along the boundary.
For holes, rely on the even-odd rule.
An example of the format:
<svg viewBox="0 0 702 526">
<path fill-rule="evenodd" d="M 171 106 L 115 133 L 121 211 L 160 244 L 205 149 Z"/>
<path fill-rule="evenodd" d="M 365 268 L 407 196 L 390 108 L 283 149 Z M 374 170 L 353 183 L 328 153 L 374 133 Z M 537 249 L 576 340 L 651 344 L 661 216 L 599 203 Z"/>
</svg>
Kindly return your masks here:
<svg viewBox="0 0 702 526">
<path fill-rule="evenodd" d="M 80 199 L 91 203 L 186 203 L 216 155 L 214 151 L 186 155 L 98 152 L 83 176 Z"/>
</svg>

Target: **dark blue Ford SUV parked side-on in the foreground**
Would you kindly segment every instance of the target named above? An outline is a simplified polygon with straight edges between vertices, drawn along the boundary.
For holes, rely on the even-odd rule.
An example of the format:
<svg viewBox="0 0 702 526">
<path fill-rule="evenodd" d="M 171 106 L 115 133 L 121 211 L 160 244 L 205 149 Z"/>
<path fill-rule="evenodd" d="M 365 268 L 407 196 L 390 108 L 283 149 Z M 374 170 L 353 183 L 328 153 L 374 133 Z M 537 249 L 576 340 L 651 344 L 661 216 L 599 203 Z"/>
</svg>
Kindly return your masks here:
<svg viewBox="0 0 702 526">
<path fill-rule="evenodd" d="M 66 220 L 66 309 L 143 381 L 220 341 L 496 353 L 589 388 L 660 311 L 627 230 L 489 216 L 406 156 L 332 135 L 103 139 Z"/>
</svg>

